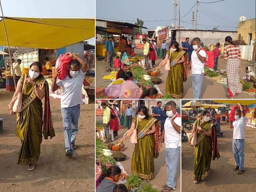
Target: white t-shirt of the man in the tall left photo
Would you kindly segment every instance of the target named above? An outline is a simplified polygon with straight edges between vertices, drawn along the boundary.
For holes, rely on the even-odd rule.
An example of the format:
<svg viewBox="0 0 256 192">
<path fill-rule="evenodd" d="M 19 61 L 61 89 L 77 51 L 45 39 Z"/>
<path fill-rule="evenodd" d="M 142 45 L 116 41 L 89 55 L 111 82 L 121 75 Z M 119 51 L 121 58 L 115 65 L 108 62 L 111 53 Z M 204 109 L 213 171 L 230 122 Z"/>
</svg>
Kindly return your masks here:
<svg viewBox="0 0 256 192">
<path fill-rule="evenodd" d="M 61 108 L 73 107 L 84 103 L 81 93 L 84 76 L 85 73 L 80 69 L 78 75 L 74 78 L 66 76 L 63 80 L 57 80 L 56 84 L 62 87 L 62 97 L 60 100 Z"/>
</svg>

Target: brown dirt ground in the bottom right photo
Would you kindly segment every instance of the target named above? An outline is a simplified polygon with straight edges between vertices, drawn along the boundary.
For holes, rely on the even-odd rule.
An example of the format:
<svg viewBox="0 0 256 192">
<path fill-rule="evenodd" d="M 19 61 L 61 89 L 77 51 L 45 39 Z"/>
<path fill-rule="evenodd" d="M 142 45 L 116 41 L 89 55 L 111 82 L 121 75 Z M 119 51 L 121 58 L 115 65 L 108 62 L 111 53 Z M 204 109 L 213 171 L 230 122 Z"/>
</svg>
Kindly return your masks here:
<svg viewBox="0 0 256 192">
<path fill-rule="evenodd" d="M 241 191 L 252 192 L 256 188 L 256 129 L 246 127 L 245 131 L 245 172 L 238 175 L 238 171 L 233 171 L 235 159 L 232 151 L 233 129 L 229 124 L 221 121 L 223 137 L 218 138 L 218 150 L 220 158 L 211 162 L 211 172 L 206 174 L 206 178 L 194 184 L 192 180 L 194 165 L 194 147 L 188 142 L 182 142 L 182 192 L 204 191 Z M 185 129 L 186 130 L 186 129 Z"/>
</svg>

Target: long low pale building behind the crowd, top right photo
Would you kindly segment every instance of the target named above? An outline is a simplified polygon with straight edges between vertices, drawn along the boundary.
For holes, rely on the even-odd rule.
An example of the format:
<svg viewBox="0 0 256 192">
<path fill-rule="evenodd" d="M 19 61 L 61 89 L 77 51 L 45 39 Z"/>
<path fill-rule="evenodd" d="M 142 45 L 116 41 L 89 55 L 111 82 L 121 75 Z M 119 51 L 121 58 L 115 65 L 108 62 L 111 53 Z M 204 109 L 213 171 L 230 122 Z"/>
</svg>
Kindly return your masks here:
<svg viewBox="0 0 256 192">
<path fill-rule="evenodd" d="M 236 31 L 209 31 L 209 30 L 172 30 L 171 41 L 176 38 L 178 43 L 185 41 L 186 38 L 192 40 L 194 37 L 199 37 L 204 45 L 209 46 L 210 44 L 224 44 L 225 37 L 230 36 L 233 40 L 236 39 Z"/>
</svg>

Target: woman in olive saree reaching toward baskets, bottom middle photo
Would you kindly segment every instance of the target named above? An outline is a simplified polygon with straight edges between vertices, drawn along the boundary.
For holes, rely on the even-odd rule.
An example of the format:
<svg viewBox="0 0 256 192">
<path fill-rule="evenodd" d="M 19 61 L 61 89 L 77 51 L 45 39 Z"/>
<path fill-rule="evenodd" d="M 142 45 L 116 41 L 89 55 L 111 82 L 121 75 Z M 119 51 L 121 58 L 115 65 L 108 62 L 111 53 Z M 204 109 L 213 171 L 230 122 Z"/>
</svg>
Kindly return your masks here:
<svg viewBox="0 0 256 192">
<path fill-rule="evenodd" d="M 132 174 L 144 180 L 152 180 L 154 177 L 155 166 L 154 158 L 158 158 L 158 139 L 160 126 L 156 129 L 158 120 L 150 117 L 148 109 L 145 106 L 140 106 L 138 116 L 133 118 L 131 130 L 134 130 L 137 125 L 137 141 L 135 144 L 132 156 Z M 132 135 L 129 131 L 121 142 Z M 141 137 L 139 137 L 141 135 Z"/>
</svg>

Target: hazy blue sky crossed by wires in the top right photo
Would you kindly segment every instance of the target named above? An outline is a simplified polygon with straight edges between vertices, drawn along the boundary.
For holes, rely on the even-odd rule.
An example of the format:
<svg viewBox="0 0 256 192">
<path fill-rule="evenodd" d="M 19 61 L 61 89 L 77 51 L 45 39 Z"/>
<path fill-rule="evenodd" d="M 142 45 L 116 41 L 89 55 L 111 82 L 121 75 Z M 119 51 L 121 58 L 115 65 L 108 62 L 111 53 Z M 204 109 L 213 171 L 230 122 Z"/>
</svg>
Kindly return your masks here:
<svg viewBox="0 0 256 192">
<path fill-rule="evenodd" d="M 192 29 L 192 12 L 196 15 L 196 0 L 179 0 L 181 26 Z M 201 2 L 214 2 L 218 0 L 201 0 Z M 193 9 L 190 11 L 190 9 Z M 213 26 L 219 30 L 236 31 L 236 26 L 241 16 L 247 19 L 255 18 L 255 0 L 224 0 L 211 4 L 199 4 L 198 29 L 212 29 Z M 178 10 L 178 9 L 177 9 Z M 190 11 L 188 15 L 186 15 Z M 185 16 L 186 15 L 186 16 Z M 185 17 L 183 17 L 185 16 Z M 116 20 L 127 20 L 134 23 L 137 18 L 144 21 L 145 27 L 154 29 L 156 26 L 170 26 L 173 21 L 159 21 L 174 19 L 174 6 L 172 0 L 148 1 L 148 0 L 96 0 L 96 18 L 111 18 Z M 183 18 L 182 18 L 183 17 Z M 178 14 L 177 14 L 178 18 Z M 128 21 L 130 20 L 130 21 Z M 146 22 L 155 21 L 155 22 Z M 188 22 L 188 23 L 185 23 Z M 178 25 L 178 21 L 177 21 Z M 230 26 L 230 27 L 229 27 Z"/>
</svg>

